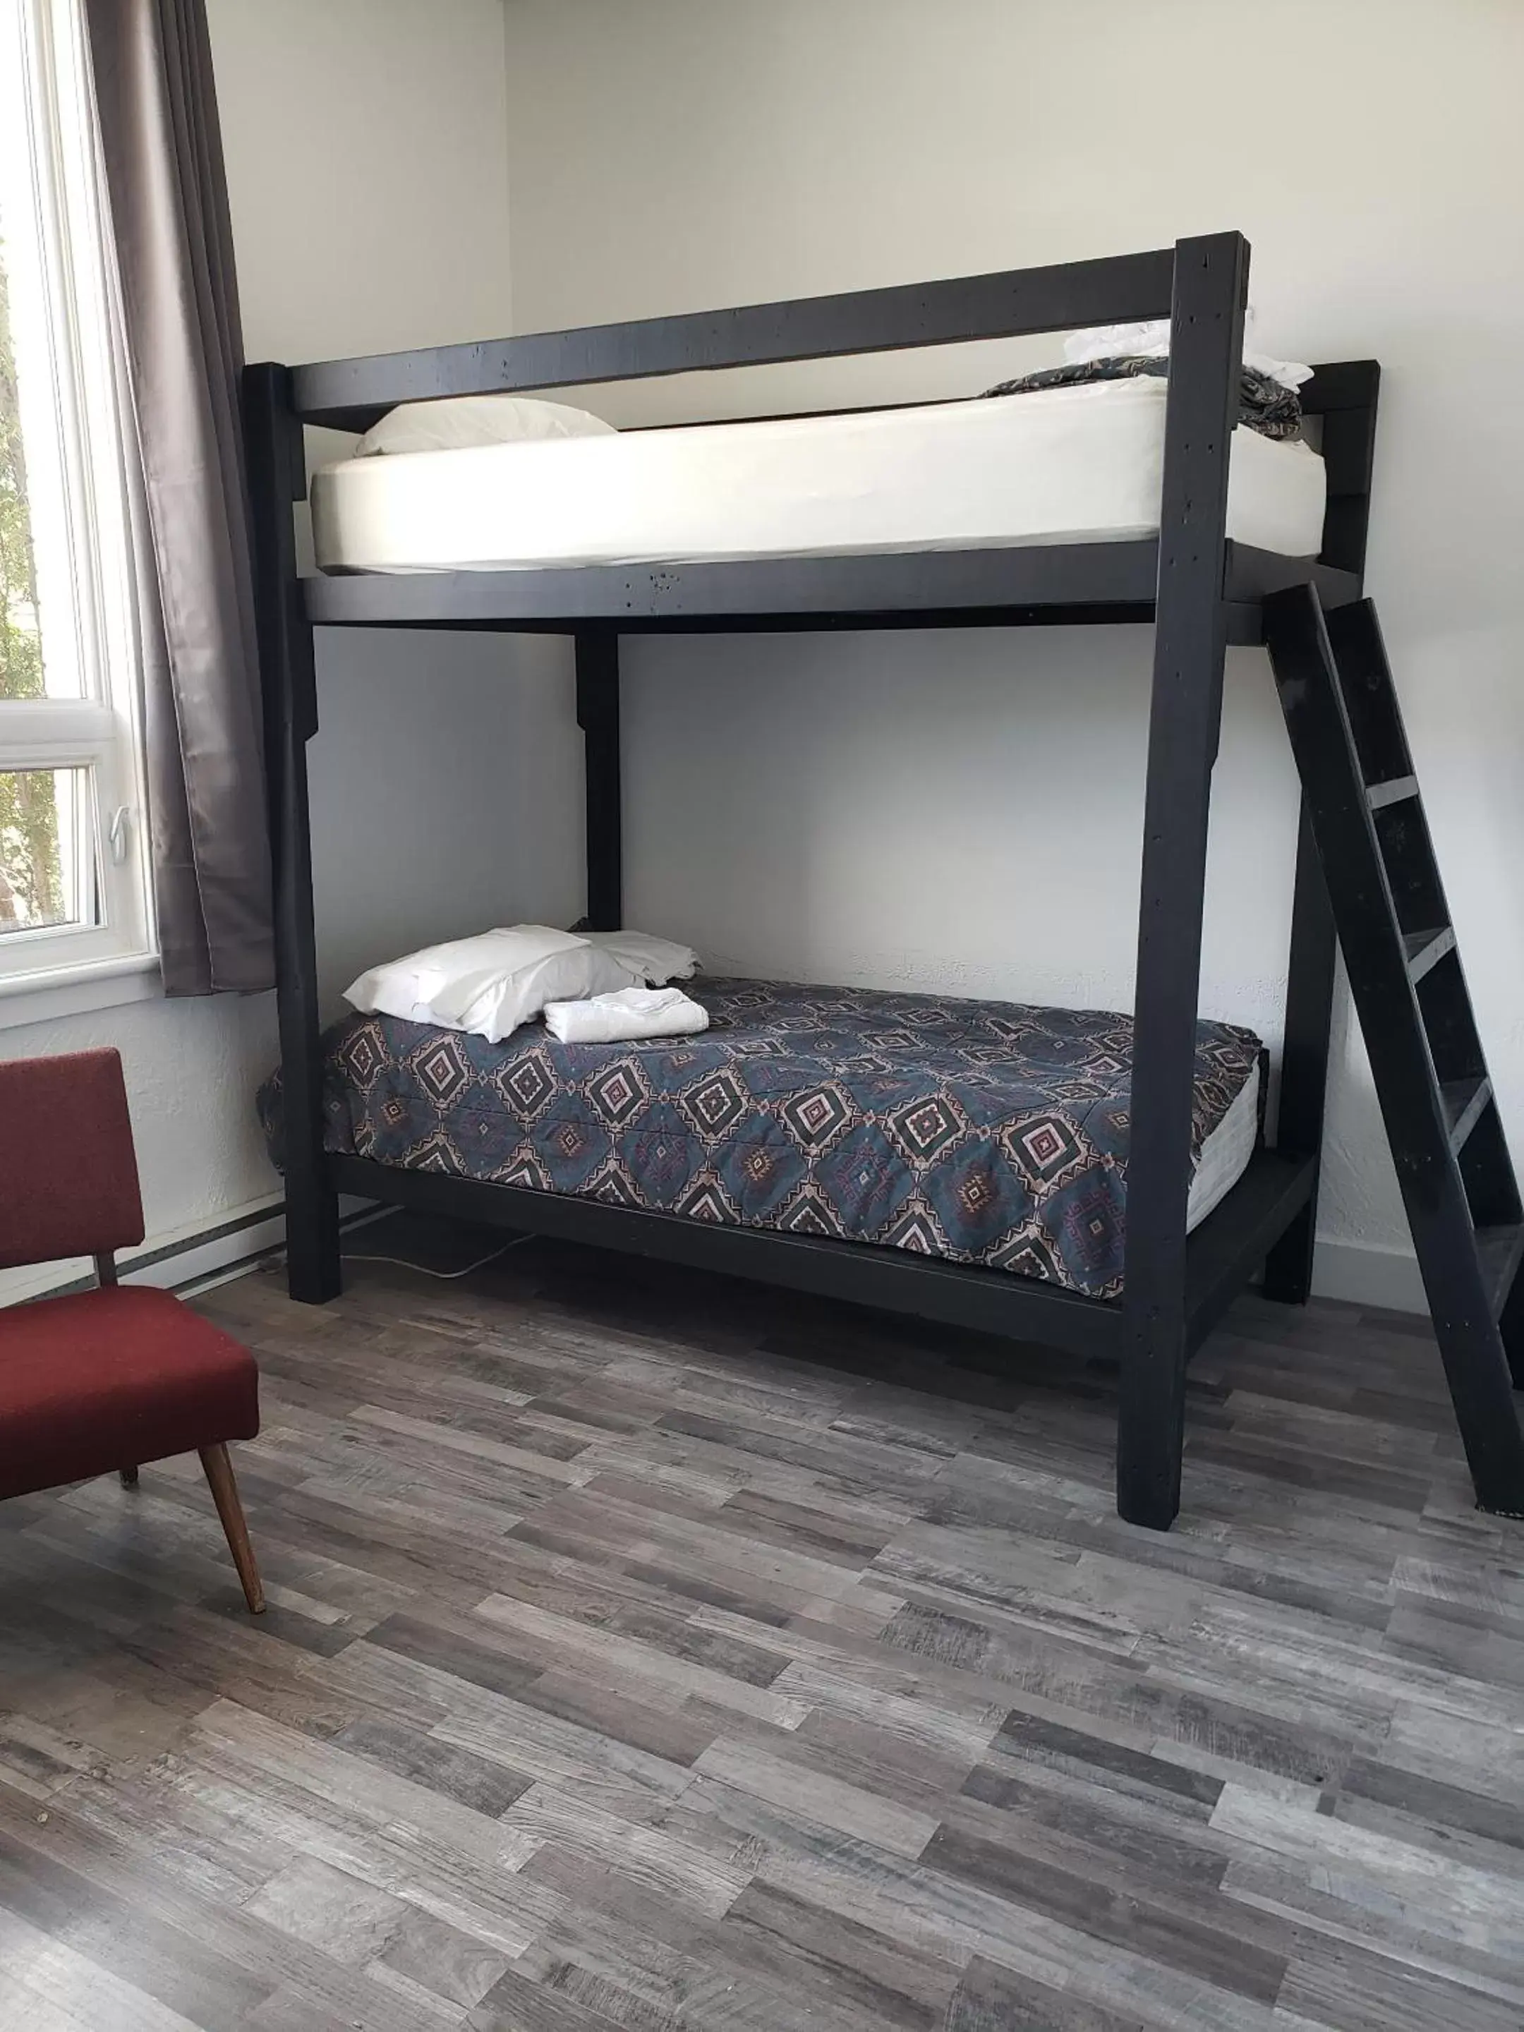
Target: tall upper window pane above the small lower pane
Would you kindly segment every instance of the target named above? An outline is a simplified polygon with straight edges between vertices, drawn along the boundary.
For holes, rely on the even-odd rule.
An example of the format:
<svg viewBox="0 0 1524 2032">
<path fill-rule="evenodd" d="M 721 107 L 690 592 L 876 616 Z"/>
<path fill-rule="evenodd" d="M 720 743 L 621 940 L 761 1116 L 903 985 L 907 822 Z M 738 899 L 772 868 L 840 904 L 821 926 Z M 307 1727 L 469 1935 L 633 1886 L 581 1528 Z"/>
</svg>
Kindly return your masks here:
<svg viewBox="0 0 1524 2032">
<path fill-rule="evenodd" d="M 63 471 L 39 250 L 8 234 L 8 213 L 24 217 L 6 205 L 8 195 L 0 191 L 0 701 L 79 697 L 67 628 L 51 642 L 55 654 L 43 656 L 39 549 L 57 553 L 41 561 L 55 595 L 69 571 Z"/>
</svg>

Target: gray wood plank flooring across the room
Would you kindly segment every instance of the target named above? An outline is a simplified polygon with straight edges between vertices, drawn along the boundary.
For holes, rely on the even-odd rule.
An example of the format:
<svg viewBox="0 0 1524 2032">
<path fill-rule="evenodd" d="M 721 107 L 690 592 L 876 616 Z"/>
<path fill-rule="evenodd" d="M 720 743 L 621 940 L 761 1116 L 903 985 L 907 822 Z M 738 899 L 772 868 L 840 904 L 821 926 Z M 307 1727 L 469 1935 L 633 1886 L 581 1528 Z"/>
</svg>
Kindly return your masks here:
<svg viewBox="0 0 1524 2032">
<path fill-rule="evenodd" d="M 530 1244 L 211 1292 L 195 1457 L 0 1508 L 10 2032 L 1520 2032 L 1524 1526 L 1418 1323 L 1114 1380 Z"/>
</svg>

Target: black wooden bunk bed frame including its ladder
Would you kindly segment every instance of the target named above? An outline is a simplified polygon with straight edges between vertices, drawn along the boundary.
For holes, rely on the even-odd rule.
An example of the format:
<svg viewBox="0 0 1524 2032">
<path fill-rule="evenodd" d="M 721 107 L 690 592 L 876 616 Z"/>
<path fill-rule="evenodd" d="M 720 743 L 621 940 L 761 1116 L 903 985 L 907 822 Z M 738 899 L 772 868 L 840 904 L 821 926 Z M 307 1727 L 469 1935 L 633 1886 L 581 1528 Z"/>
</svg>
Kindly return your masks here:
<svg viewBox="0 0 1524 2032">
<path fill-rule="evenodd" d="M 337 1199 L 354 1193 L 1112 1357 L 1122 1380 L 1118 1508 L 1128 1520 L 1166 1528 L 1181 1500 L 1193 1349 L 1260 1268 L 1272 1298 L 1300 1303 L 1309 1294 L 1337 918 L 1477 1494 L 1487 1508 L 1524 1512 L 1524 1445 L 1504 1357 L 1504 1343 L 1512 1343 L 1518 1359 L 1524 1339 L 1518 1307 L 1510 1305 L 1524 1223 L 1459 957 L 1453 988 L 1439 965 L 1455 941 L 1433 855 L 1424 858 L 1426 829 L 1406 750 L 1394 758 L 1402 746 L 1396 701 L 1374 616 L 1361 604 L 1378 370 L 1372 362 L 1323 366 L 1303 390 L 1303 410 L 1319 419 L 1327 469 L 1321 557 L 1280 557 L 1227 541 L 1248 258 L 1237 234 L 1219 234 L 1114 260 L 246 370 L 295 1298 L 323 1303 L 337 1294 Z M 394 404 L 423 398 L 1162 317 L 1170 319 L 1170 358 L 1158 538 L 297 575 L 293 502 L 307 494 L 305 425 L 364 431 Z M 307 742 L 317 729 L 315 628 L 569 634 L 585 734 L 587 923 L 618 929 L 622 634 L 1107 622 L 1154 624 L 1120 1300 L 935 1256 L 705 1225 L 325 1150 L 307 807 Z M 1335 656 L 1331 638 L 1339 628 L 1343 646 Z M 1221 1205 L 1187 1233 L 1223 652 L 1227 644 L 1262 642 L 1272 650 L 1305 784 L 1276 1126 Z M 1353 679 L 1351 664 L 1359 664 Z M 1433 1006 L 1422 1006 L 1424 975 Z"/>
</svg>

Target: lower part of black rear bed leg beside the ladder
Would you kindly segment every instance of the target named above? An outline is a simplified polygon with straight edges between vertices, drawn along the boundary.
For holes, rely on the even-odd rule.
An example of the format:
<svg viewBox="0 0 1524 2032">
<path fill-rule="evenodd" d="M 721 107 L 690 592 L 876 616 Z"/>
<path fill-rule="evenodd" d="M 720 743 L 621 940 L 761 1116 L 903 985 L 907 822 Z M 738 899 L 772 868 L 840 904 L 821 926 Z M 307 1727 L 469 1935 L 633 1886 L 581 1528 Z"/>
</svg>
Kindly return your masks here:
<svg viewBox="0 0 1524 2032">
<path fill-rule="evenodd" d="M 1286 967 L 1286 1036 L 1280 1053 L 1280 1105 L 1276 1109 L 1276 1148 L 1288 1156 L 1321 1158 L 1323 1152 L 1337 951 L 1329 886 L 1323 880 L 1307 799 L 1303 799 L 1296 831 L 1296 890 L 1290 910 L 1290 963 Z M 1307 1305 L 1313 1292 L 1317 1187 L 1315 1174 L 1313 1197 L 1264 1260 L 1264 1294 L 1282 1305 Z"/>
</svg>

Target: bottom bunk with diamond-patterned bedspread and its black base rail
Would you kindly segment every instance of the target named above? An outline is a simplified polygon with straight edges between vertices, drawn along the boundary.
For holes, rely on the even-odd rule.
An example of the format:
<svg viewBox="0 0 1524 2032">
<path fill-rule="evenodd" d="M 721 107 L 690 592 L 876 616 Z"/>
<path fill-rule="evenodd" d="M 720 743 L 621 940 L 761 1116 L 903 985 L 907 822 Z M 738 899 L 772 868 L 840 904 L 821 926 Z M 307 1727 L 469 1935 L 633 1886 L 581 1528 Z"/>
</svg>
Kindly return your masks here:
<svg viewBox="0 0 1524 2032">
<path fill-rule="evenodd" d="M 752 979 L 693 992 L 709 1030 L 656 1044 L 561 1044 L 538 1022 L 492 1044 L 345 1018 L 325 1036 L 329 1185 L 1107 1343 L 1122 1317 L 1128 1016 Z M 1260 1040 L 1201 1022 L 1189 1225 L 1203 1321 L 1311 1193 L 1311 1162 L 1262 1148 L 1262 1101 Z M 260 1112 L 278 1162 L 278 1077 Z"/>
</svg>

